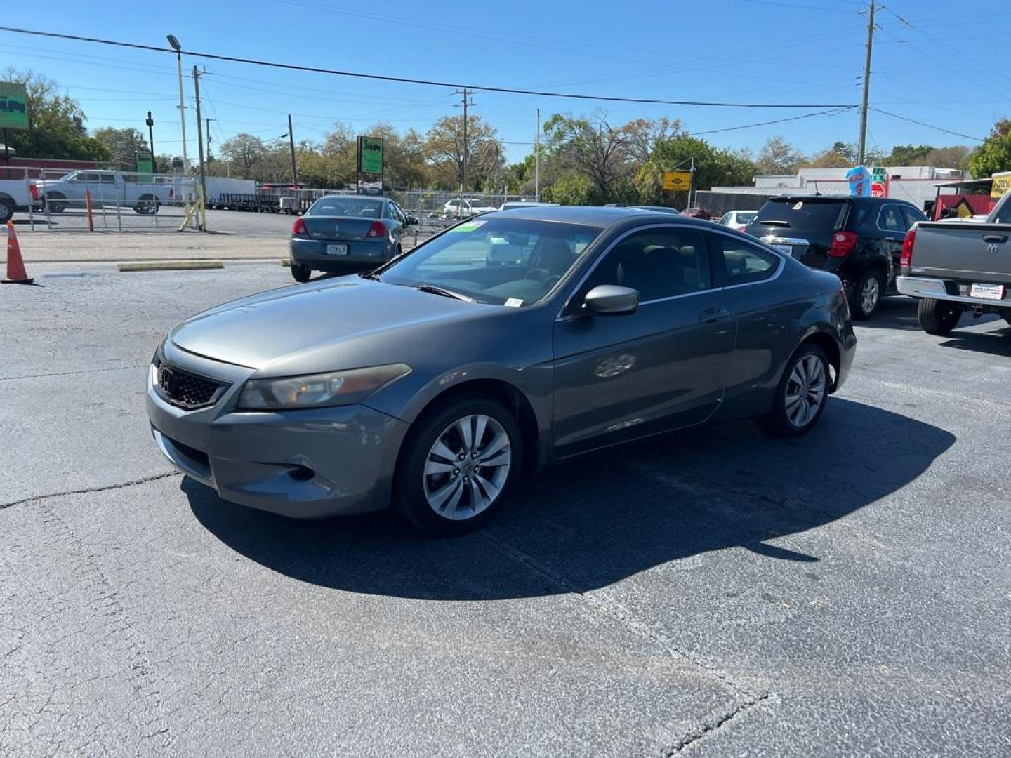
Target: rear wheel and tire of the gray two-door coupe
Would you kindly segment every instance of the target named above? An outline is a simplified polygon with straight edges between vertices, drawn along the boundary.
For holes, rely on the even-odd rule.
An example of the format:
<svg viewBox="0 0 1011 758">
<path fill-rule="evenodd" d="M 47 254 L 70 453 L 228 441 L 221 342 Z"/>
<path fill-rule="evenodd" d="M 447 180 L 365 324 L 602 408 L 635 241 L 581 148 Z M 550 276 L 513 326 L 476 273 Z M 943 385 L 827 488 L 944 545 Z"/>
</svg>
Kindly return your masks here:
<svg viewBox="0 0 1011 758">
<path fill-rule="evenodd" d="M 819 370 L 820 367 L 820 370 Z M 805 392 L 804 382 L 809 387 Z M 820 383 L 820 392 L 818 385 Z M 790 357 L 775 389 L 772 408 L 761 425 L 777 437 L 801 437 L 815 428 L 828 402 L 829 363 L 825 352 L 814 343 L 804 343 Z M 812 391 L 813 390 L 813 391 Z M 799 398 L 792 400 L 790 398 Z M 817 407 L 811 412 L 811 402 Z M 789 404 L 788 404 L 789 401 Z M 800 403 L 800 405 L 798 405 Z"/>
</svg>

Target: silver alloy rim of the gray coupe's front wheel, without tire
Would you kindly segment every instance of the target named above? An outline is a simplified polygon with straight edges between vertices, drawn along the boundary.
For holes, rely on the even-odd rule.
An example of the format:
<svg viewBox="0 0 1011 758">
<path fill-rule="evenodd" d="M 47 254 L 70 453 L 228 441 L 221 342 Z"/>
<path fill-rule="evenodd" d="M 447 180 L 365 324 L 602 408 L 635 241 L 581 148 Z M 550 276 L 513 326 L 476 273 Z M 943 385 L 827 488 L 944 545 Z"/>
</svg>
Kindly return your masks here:
<svg viewBox="0 0 1011 758">
<path fill-rule="evenodd" d="M 446 428 L 425 459 L 425 497 L 444 518 L 473 518 L 498 497 L 512 465 L 501 423 L 487 415 L 464 416 Z"/>
</svg>

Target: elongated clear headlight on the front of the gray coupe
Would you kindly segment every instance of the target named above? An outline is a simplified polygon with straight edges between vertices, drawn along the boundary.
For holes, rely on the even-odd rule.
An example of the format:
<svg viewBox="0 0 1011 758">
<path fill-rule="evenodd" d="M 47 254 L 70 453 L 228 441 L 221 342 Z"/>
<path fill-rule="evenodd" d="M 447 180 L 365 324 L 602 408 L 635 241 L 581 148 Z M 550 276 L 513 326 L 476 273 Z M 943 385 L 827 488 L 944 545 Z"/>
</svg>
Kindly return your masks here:
<svg viewBox="0 0 1011 758">
<path fill-rule="evenodd" d="M 360 402 L 387 384 L 410 373 L 402 363 L 328 374 L 250 379 L 239 396 L 240 410 L 316 408 Z"/>
</svg>

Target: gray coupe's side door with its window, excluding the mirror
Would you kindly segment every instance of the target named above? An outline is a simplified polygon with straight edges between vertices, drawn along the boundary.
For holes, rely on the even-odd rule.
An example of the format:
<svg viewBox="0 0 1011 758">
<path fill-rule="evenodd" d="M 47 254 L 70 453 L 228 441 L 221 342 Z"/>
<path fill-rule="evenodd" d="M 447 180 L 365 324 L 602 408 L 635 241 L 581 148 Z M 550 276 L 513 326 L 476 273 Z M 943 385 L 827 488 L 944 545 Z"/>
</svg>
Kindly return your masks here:
<svg viewBox="0 0 1011 758">
<path fill-rule="evenodd" d="M 582 298 L 603 284 L 636 289 L 638 309 L 586 314 Z M 658 224 L 619 238 L 569 298 L 553 340 L 557 455 L 706 420 L 723 397 L 734 320 L 703 232 Z"/>
</svg>

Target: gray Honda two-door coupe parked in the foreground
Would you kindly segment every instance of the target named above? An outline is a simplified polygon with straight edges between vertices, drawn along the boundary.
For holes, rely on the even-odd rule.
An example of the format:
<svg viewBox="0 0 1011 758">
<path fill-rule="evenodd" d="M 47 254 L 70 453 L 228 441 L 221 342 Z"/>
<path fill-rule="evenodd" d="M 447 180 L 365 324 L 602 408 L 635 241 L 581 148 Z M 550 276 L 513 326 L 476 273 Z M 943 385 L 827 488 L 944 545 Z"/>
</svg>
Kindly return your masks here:
<svg viewBox="0 0 1011 758">
<path fill-rule="evenodd" d="M 147 405 L 162 453 L 227 500 L 296 518 L 391 505 L 452 535 L 587 451 L 740 418 L 803 435 L 855 345 L 839 279 L 753 238 L 532 207 L 188 318 Z"/>
</svg>

